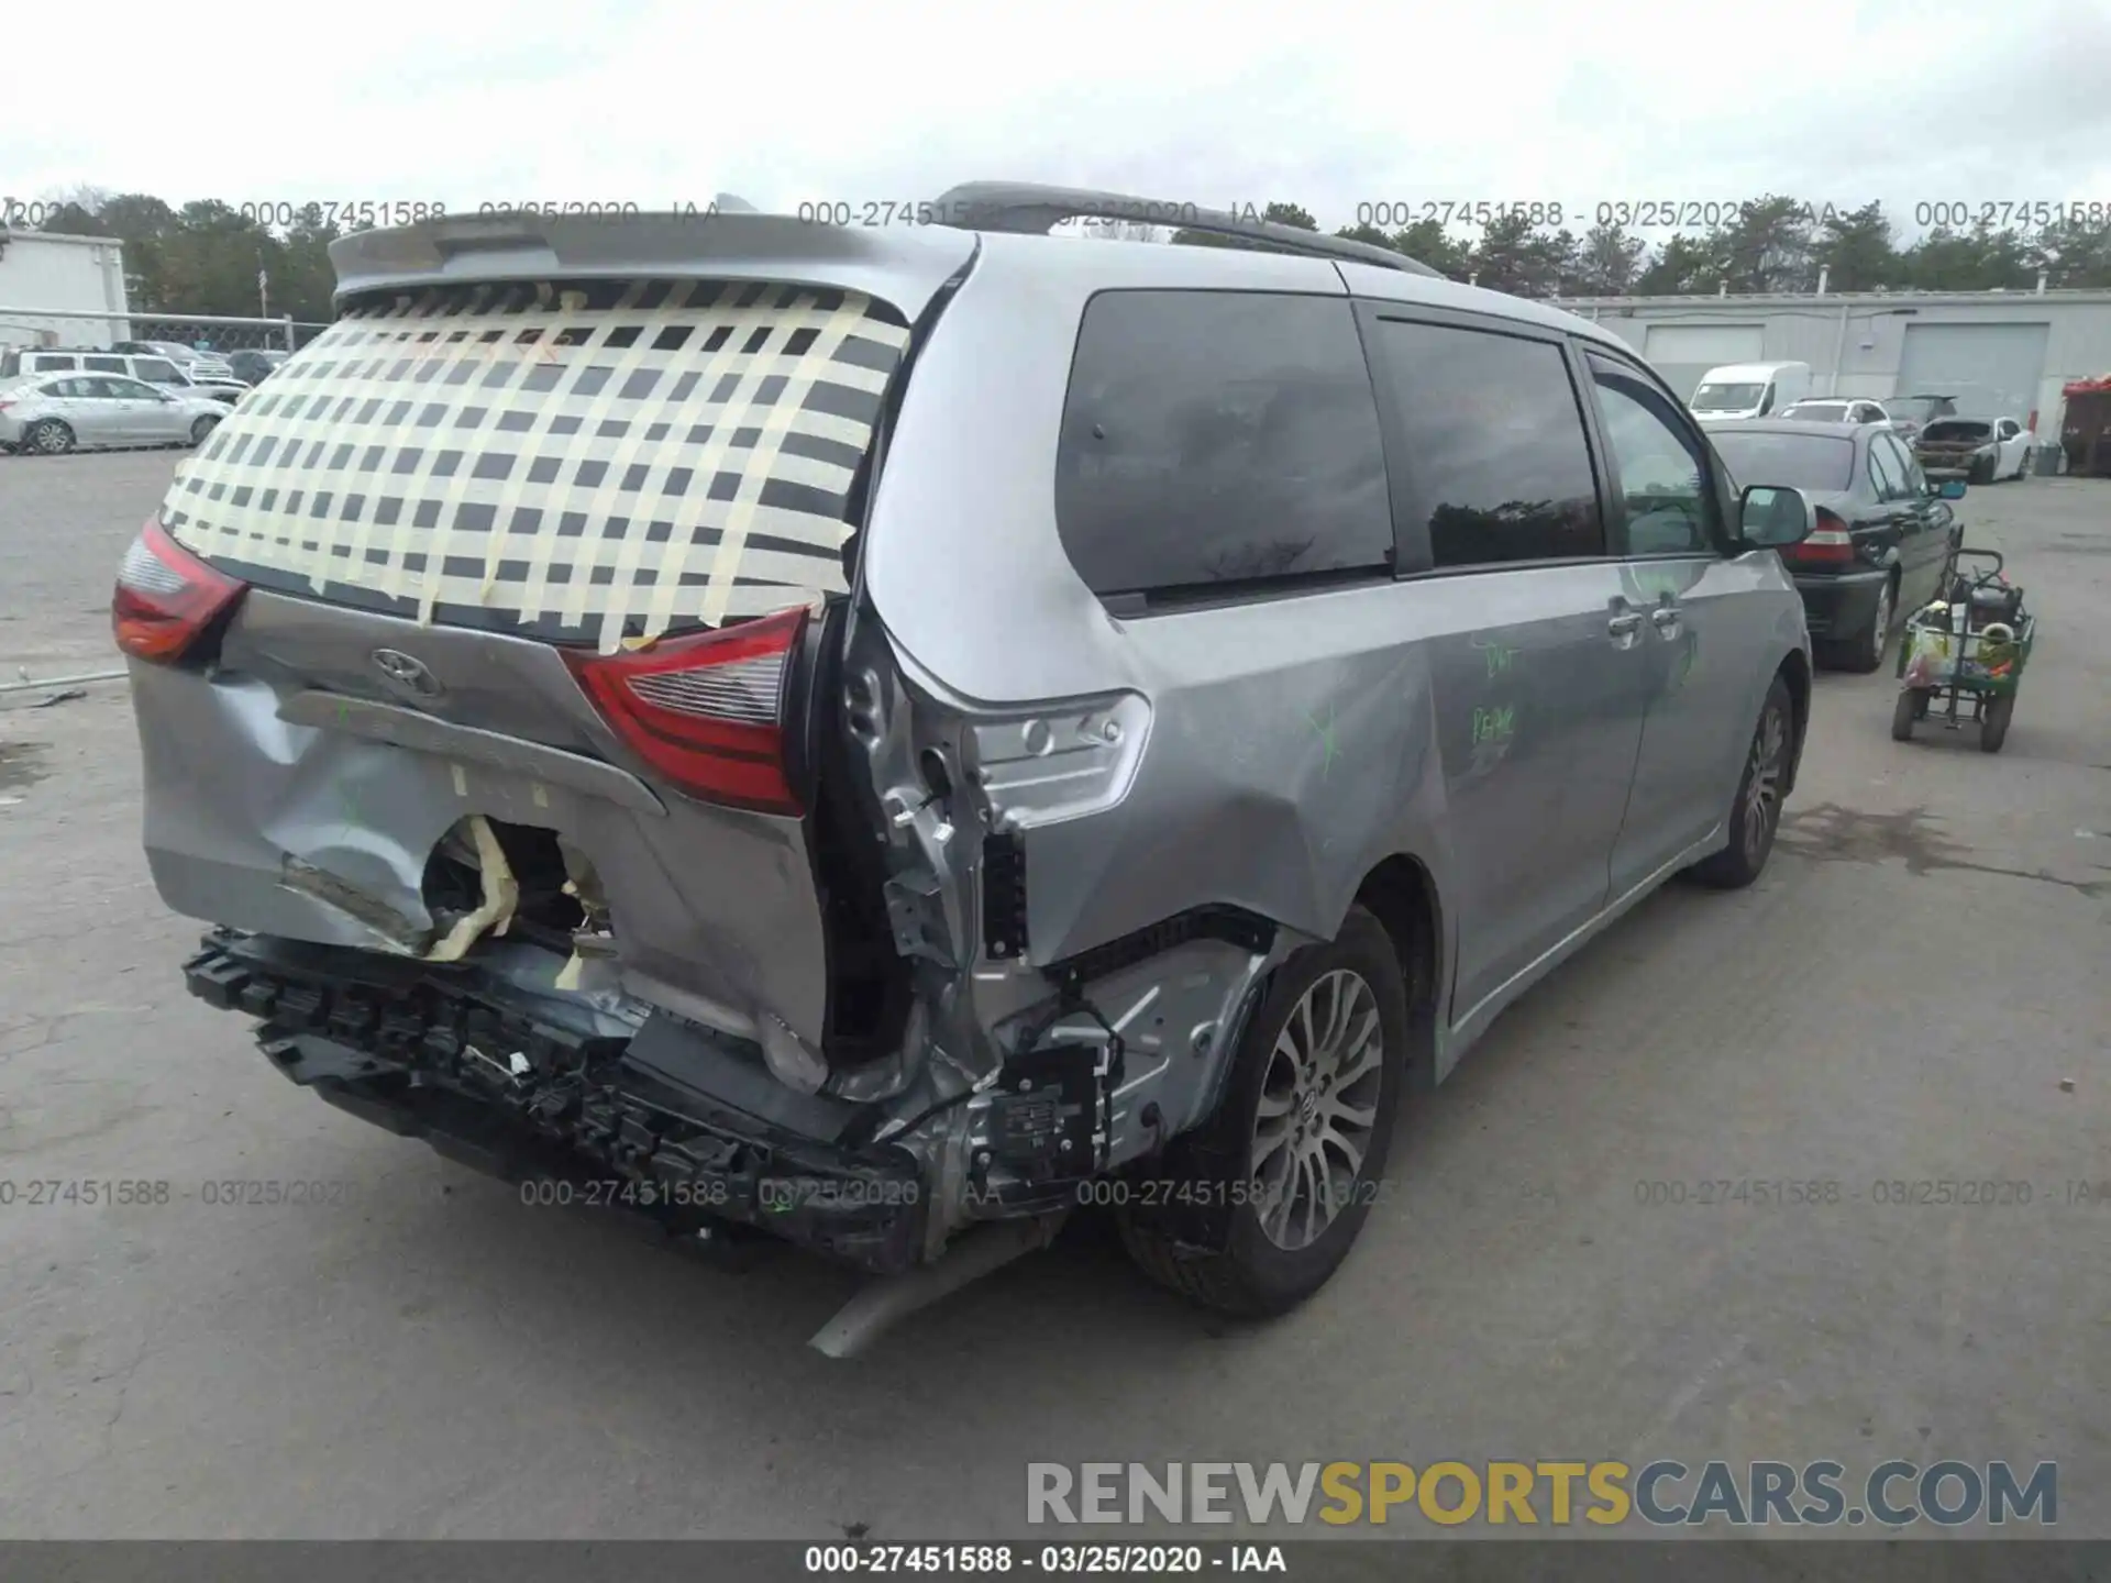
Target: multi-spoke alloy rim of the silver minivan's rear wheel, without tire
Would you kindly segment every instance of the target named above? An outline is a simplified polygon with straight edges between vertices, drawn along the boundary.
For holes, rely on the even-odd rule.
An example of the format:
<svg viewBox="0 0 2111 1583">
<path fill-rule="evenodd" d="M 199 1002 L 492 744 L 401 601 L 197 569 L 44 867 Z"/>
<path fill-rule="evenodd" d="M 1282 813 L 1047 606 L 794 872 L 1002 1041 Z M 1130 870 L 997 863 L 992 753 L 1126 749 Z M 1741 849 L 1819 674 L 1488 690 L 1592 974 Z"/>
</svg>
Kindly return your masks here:
<svg viewBox="0 0 2111 1583">
<path fill-rule="evenodd" d="M 1311 1247 L 1351 1205 L 1383 1083 L 1378 996 L 1351 969 L 1321 975 L 1275 1036 L 1254 1114 L 1250 1176 L 1271 1243 Z"/>
</svg>

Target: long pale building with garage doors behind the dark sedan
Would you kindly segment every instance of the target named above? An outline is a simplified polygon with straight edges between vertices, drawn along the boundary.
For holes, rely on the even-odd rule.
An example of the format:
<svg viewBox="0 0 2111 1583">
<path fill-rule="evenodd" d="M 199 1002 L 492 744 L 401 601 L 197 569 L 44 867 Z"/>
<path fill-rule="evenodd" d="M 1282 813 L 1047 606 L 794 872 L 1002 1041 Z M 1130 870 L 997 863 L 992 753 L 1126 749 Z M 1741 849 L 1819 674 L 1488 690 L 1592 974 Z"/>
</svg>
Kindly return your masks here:
<svg viewBox="0 0 2111 1583">
<path fill-rule="evenodd" d="M 1723 363 L 1809 363 L 1813 395 L 1955 395 L 2060 433 L 2060 386 L 2111 374 L 2111 291 L 1568 298 L 1691 397 Z"/>
</svg>

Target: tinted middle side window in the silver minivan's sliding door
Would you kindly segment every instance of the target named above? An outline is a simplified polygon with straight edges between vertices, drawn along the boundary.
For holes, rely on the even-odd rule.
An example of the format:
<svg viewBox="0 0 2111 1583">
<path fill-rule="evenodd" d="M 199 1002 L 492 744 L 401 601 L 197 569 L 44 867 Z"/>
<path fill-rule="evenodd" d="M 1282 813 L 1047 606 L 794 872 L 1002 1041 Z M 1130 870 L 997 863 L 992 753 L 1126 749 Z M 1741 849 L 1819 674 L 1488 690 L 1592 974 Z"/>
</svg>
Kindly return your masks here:
<svg viewBox="0 0 2111 1583">
<path fill-rule="evenodd" d="M 1604 555 L 1568 363 L 1552 342 L 1372 321 L 1408 450 L 1412 521 L 1438 566 Z"/>
</svg>

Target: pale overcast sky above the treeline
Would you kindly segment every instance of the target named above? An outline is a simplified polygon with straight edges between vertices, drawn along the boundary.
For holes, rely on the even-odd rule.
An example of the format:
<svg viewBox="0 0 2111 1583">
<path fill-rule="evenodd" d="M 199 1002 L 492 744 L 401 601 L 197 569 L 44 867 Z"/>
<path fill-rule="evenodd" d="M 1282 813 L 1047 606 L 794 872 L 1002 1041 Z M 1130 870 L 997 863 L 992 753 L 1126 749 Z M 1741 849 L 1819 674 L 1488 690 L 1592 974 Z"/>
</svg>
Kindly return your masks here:
<svg viewBox="0 0 2111 1583">
<path fill-rule="evenodd" d="M 8 196 L 771 209 L 1011 177 L 1330 228 L 1784 192 L 1908 232 L 1932 201 L 2111 203 L 2111 0 L 217 0 L 120 32 L 87 78 L 8 74 Z"/>
</svg>

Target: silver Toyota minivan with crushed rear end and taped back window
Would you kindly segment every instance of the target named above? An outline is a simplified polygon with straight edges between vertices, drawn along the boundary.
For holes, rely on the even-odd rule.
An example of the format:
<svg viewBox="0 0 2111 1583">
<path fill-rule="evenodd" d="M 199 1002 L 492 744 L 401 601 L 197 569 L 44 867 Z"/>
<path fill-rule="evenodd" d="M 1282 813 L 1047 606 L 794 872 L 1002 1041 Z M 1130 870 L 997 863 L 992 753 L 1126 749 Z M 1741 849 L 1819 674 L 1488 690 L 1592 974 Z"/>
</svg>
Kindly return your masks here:
<svg viewBox="0 0 2111 1583">
<path fill-rule="evenodd" d="M 1767 863 L 1811 513 L 1581 319 L 1079 213 L 334 243 L 116 587 L 192 992 L 686 1245 L 914 1279 L 1110 1203 L 1315 1292 L 1410 1087 Z"/>
</svg>

